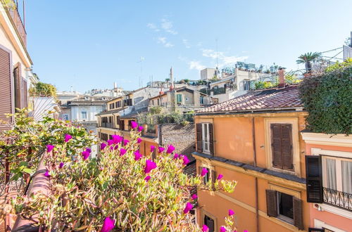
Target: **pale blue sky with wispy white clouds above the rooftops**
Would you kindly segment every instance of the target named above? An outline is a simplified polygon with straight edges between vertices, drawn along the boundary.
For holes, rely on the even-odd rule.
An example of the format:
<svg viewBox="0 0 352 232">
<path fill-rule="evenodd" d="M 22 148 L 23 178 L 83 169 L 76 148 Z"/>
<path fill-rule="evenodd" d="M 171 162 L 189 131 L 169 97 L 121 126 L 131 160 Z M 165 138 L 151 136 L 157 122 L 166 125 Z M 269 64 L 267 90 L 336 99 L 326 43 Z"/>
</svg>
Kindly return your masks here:
<svg viewBox="0 0 352 232">
<path fill-rule="evenodd" d="M 199 79 L 237 60 L 297 69 L 296 58 L 344 44 L 352 1 L 27 0 L 27 47 L 34 72 L 59 91 L 139 87 Z M 334 55 L 334 54 L 332 54 Z"/>
</svg>

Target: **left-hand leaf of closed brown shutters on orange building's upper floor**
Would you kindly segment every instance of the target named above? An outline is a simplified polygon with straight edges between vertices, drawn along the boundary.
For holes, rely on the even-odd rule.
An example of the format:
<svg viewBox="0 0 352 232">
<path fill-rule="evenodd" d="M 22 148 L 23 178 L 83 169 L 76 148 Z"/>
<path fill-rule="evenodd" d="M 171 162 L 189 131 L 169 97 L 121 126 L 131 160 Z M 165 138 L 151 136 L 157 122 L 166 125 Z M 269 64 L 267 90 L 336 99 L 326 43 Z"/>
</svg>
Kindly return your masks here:
<svg viewBox="0 0 352 232">
<path fill-rule="evenodd" d="M 281 125 L 271 124 L 272 166 L 282 169 Z"/>
</svg>

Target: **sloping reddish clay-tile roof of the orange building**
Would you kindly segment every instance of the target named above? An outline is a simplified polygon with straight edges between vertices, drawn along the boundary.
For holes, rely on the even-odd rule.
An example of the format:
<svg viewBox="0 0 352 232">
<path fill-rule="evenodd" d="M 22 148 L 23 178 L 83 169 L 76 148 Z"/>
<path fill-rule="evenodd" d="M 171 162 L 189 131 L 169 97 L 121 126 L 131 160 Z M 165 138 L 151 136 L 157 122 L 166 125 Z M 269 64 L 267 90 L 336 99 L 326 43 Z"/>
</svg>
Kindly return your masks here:
<svg viewBox="0 0 352 232">
<path fill-rule="evenodd" d="M 203 108 L 196 113 L 251 112 L 282 110 L 282 108 L 289 110 L 302 107 L 303 104 L 299 98 L 298 85 L 296 84 L 282 89 L 251 91 L 248 94 L 238 96 L 229 101 Z"/>
</svg>

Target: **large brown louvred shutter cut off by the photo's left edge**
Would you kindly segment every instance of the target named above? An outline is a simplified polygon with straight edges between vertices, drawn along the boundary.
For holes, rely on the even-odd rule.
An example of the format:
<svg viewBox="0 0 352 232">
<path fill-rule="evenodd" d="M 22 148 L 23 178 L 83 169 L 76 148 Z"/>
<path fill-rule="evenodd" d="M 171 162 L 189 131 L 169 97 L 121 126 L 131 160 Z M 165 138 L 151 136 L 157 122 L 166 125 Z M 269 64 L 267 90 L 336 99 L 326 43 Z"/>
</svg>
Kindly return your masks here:
<svg viewBox="0 0 352 232">
<path fill-rule="evenodd" d="M 8 124 L 12 118 L 5 114 L 12 113 L 12 89 L 11 89 L 11 57 L 10 53 L 0 49 L 0 131 L 10 129 Z"/>
</svg>

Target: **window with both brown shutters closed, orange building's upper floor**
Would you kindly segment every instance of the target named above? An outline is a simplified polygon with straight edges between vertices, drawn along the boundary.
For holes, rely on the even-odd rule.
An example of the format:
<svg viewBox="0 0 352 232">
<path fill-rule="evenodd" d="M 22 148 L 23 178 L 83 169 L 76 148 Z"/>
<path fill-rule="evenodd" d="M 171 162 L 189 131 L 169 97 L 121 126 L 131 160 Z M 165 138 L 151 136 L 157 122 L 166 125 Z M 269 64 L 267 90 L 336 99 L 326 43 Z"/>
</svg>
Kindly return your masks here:
<svg viewBox="0 0 352 232">
<path fill-rule="evenodd" d="M 272 166 L 294 171 L 292 153 L 292 125 L 271 124 Z"/>
</svg>

